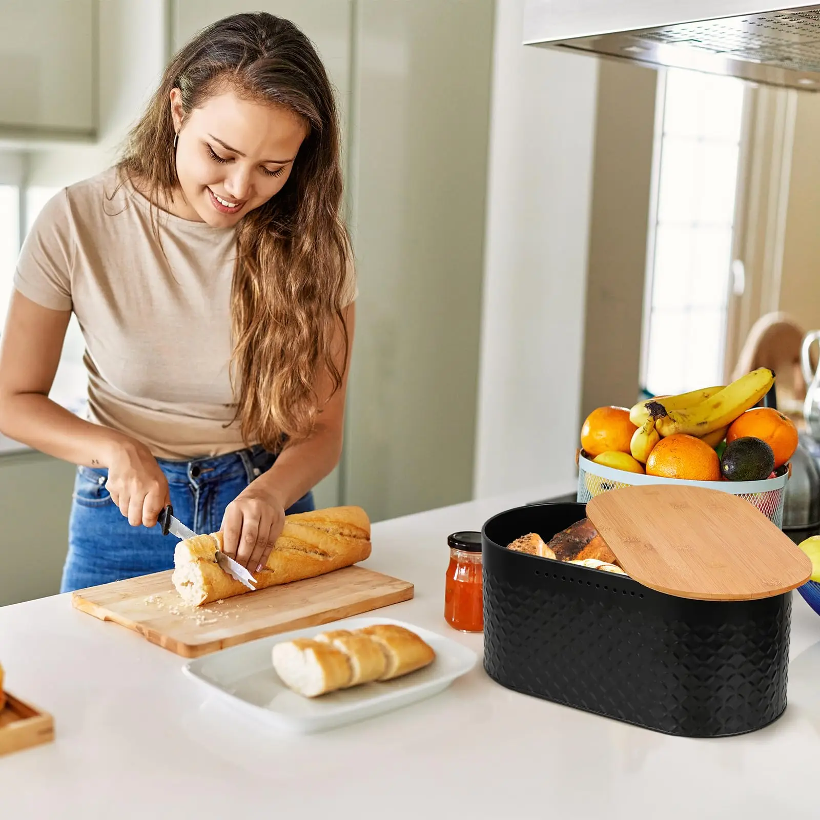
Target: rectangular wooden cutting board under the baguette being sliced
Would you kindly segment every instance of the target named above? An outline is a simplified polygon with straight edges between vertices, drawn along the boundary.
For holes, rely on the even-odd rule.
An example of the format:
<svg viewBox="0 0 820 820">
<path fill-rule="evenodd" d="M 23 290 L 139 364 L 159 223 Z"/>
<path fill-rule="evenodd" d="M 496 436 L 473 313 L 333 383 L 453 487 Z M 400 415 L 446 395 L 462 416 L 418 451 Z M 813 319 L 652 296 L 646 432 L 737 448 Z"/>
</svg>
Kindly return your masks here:
<svg viewBox="0 0 820 820">
<path fill-rule="evenodd" d="M 266 635 L 367 613 L 412 596 L 408 581 L 363 567 L 345 567 L 194 607 L 180 599 L 168 570 L 78 590 L 71 603 L 84 613 L 139 632 L 164 649 L 198 658 Z"/>
</svg>

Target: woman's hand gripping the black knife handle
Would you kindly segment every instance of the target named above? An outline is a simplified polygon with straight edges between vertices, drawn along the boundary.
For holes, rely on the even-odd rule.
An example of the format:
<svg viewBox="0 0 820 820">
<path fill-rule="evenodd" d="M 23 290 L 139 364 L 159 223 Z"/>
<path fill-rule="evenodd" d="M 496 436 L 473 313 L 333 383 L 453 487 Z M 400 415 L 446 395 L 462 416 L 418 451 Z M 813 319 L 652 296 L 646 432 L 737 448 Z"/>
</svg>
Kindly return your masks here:
<svg viewBox="0 0 820 820">
<path fill-rule="evenodd" d="M 108 459 L 106 489 L 131 526 L 154 526 L 159 513 L 171 503 L 165 473 L 139 441 L 114 445 Z"/>
</svg>

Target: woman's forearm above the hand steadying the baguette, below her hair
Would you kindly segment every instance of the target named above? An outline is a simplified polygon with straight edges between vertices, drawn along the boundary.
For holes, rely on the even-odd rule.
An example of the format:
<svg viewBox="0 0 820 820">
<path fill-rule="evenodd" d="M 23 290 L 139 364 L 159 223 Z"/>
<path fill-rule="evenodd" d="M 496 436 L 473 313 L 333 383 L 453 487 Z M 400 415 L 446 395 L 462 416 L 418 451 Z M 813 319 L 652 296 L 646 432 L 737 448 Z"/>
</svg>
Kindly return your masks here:
<svg viewBox="0 0 820 820">
<path fill-rule="evenodd" d="M 320 427 L 307 439 L 286 446 L 271 469 L 254 483 L 271 491 L 287 509 L 330 475 L 341 454 L 341 430 Z"/>
</svg>

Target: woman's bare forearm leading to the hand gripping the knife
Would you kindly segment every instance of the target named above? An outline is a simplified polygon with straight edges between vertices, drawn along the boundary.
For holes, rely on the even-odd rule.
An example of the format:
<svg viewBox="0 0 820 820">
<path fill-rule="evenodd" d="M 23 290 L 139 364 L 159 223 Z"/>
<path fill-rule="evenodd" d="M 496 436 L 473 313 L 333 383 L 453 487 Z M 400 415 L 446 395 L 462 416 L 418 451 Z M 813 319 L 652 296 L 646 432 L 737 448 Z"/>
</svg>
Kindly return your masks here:
<svg viewBox="0 0 820 820">
<path fill-rule="evenodd" d="M 43 453 L 85 467 L 109 467 L 128 436 L 93 424 L 40 393 L 0 394 L 0 432 Z"/>
</svg>

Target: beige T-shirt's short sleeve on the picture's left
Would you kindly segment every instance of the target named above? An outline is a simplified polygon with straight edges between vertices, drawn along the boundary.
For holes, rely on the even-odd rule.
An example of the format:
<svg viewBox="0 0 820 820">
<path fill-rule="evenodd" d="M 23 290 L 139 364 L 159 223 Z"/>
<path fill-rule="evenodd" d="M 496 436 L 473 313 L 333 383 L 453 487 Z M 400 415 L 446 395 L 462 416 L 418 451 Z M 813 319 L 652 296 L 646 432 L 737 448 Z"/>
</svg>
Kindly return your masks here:
<svg viewBox="0 0 820 820">
<path fill-rule="evenodd" d="M 43 206 L 25 237 L 14 286 L 26 298 L 52 310 L 71 310 L 73 262 L 71 219 L 66 189 Z"/>
</svg>

